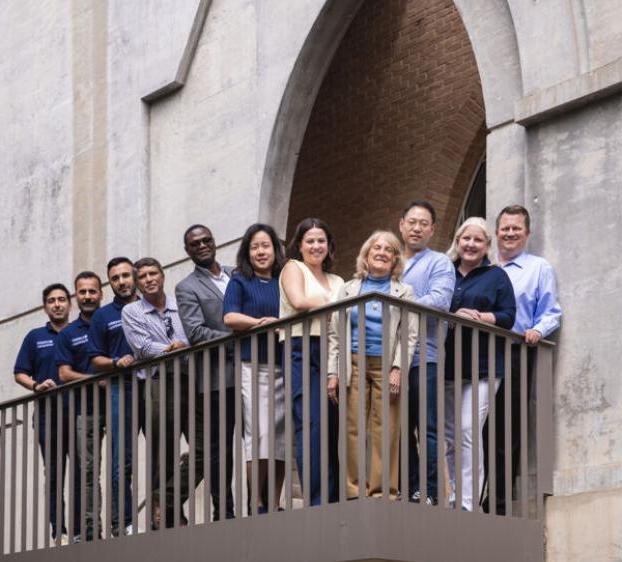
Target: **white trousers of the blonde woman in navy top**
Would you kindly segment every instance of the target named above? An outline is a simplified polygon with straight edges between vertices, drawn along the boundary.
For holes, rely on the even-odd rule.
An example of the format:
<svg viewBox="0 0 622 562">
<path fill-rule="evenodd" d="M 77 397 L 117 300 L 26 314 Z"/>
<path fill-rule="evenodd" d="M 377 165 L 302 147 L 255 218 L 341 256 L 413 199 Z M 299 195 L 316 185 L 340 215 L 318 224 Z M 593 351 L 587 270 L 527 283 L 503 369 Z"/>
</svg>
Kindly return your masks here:
<svg viewBox="0 0 622 562">
<path fill-rule="evenodd" d="M 499 388 L 500 379 L 495 380 L 495 393 Z M 462 381 L 462 402 L 460 405 L 460 427 L 462 429 L 460 463 L 462 467 L 462 507 L 468 511 L 473 511 L 473 504 L 479 502 L 484 486 L 484 444 L 482 442 L 482 431 L 484 422 L 488 415 L 488 377 L 478 383 L 477 400 L 477 419 L 476 427 L 473 427 L 472 403 L 473 403 L 473 384 Z M 493 397 L 494 399 L 494 397 Z M 450 504 L 456 502 L 456 444 L 455 444 L 455 387 L 454 383 L 448 382 L 445 389 L 445 439 L 447 441 L 447 465 L 449 468 L 449 501 Z M 477 466 L 478 494 L 473 498 L 473 435 L 477 431 L 479 434 L 479 461 Z"/>
</svg>

